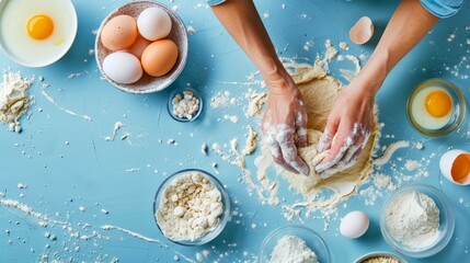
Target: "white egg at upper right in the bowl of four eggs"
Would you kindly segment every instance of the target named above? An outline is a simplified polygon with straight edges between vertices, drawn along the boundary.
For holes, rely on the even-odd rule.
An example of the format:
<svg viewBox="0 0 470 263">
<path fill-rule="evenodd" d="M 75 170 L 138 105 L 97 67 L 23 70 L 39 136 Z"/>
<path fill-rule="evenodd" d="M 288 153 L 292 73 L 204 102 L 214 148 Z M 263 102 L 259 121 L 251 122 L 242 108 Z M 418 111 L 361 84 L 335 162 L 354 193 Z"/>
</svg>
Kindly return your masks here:
<svg viewBox="0 0 470 263">
<path fill-rule="evenodd" d="M 170 15 L 160 8 L 148 8 L 137 19 L 137 27 L 141 36 L 148 41 L 167 37 L 171 31 Z"/>
</svg>

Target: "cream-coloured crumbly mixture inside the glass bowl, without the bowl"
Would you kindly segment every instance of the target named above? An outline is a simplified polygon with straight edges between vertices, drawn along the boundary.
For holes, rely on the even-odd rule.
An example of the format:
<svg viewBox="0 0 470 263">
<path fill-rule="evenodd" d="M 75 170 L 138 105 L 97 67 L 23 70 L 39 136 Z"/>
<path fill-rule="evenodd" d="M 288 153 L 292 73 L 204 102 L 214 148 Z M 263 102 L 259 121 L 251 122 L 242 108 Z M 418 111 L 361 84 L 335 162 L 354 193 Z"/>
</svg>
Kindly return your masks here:
<svg viewBox="0 0 470 263">
<path fill-rule="evenodd" d="M 205 174 L 191 172 L 163 190 L 156 217 L 167 238 L 194 241 L 218 226 L 222 211 L 221 194 L 216 186 Z"/>
</svg>

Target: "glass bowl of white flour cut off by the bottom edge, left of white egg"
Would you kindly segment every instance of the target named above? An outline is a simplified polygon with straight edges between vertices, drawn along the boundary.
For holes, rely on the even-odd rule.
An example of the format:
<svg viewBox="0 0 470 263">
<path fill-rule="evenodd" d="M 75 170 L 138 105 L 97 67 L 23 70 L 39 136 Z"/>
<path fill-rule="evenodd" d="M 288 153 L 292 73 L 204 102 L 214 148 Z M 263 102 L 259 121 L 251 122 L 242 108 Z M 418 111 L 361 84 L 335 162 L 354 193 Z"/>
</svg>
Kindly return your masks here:
<svg viewBox="0 0 470 263">
<path fill-rule="evenodd" d="M 285 226 L 273 230 L 260 250 L 260 263 L 329 263 L 330 251 L 323 239 L 310 228 Z"/>
</svg>

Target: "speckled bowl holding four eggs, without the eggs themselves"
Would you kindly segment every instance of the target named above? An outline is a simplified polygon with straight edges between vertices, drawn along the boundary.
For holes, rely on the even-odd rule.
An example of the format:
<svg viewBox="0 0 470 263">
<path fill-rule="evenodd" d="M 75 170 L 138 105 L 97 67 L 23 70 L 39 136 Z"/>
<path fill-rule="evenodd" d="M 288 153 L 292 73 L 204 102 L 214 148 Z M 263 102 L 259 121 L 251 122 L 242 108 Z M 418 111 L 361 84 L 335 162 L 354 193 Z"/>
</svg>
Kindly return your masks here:
<svg viewBox="0 0 470 263">
<path fill-rule="evenodd" d="M 144 10 L 152 7 L 158 7 L 164 10 L 170 15 L 172 26 L 171 26 L 170 34 L 165 38 L 173 41 L 177 46 L 179 55 L 177 55 L 176 64 L 173 66 L 170 72 L 168 72 L 162 77 L 151 77 L 144 72 L 142 77 L 135 83 L 130 83 L 130 84 L 117 83 L 112 79 L 110 79 L 103 71 L 103 60 L 107 55 L 110 55 L 113 52 L 108 50 L 101 43 L 101 37 L 100 37 L 101 31 L 103 30 L 103 26 L 107 23 L 107 21 L 110 21 L 116 15 L 127 14 L 137 20 L 137 18 Z M 100 69 L 100 72 L 102 73 L 104 79 L 115 88 L 125 92 L 137 93 L 137 94 L 145 94 L 145 93 L 161 91 L 176 80 L 176 78 L 183 71 L 183 68 L 186 64 L 186 58 L 187 58 L 186 27 L 184 26 L 183 21 L 180 19 L 176 12 L 167 8 L 162 3 L 153 2 L 153 1 L 129 2 L 117 8 L 103 20 L 96 34 L 96 39 L 94 43 L 94 55 L 95 55 L 95 59 L 96 59 L 96 64 L 98 64 L 98 68 Z"/>
</svg>

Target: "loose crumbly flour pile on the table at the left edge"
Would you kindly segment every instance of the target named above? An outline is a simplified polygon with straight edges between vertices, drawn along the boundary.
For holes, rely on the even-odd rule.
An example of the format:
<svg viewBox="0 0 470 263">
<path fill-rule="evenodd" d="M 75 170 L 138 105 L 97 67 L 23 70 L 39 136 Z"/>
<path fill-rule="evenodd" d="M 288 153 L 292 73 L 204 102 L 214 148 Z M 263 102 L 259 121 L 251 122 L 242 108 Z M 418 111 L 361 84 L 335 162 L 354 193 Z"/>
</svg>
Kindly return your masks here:
<svg viewBox="0 0 470 263">
<path fill-rule="evenodd" d="M 21 132 L 19 119 L 27 111 L 31 83 L 20 72 L 3 73 L 3 84 L 0 85 L 0 122 L 8 124 L 11 132 Z"/>
</svg>

